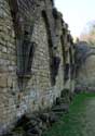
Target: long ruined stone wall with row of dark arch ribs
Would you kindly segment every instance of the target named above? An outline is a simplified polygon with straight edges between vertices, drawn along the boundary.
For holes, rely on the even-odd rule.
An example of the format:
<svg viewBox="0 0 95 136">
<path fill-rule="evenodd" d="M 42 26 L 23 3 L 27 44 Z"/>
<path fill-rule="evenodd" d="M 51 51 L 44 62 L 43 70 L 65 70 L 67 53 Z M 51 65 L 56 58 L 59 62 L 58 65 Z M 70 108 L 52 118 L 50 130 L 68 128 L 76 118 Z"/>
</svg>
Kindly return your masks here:
<svg viewBox="0 0 95 136">
<path fill-rule="evenodd" d="M 74 89 L 74 47 L 53 0 L 0 0 L 0 135 Z"/>
</svg>

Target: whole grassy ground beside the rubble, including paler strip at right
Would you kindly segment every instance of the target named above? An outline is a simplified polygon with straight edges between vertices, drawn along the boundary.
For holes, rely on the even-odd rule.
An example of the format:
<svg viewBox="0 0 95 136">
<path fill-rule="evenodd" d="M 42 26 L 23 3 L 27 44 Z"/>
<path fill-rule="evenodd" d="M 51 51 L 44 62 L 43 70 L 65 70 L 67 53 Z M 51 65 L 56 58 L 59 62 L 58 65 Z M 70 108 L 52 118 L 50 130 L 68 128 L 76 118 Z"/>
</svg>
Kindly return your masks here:
<svg viewBox="0 0 95 136">
<path fill-rule="evenodd" d="M 43 136 L 95 136 L 95 95 L 77 95 L 64 114 Z"/>
</svg>

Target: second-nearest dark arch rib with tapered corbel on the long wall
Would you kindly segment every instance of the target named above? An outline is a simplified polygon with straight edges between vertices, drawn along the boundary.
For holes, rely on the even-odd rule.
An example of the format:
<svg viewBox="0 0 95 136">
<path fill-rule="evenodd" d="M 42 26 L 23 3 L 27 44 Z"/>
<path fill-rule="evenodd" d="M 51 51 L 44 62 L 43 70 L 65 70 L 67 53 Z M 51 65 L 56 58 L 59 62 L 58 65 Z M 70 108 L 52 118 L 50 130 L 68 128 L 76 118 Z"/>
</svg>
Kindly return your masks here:
<svg viewBox="0 0 95 136">
<path fill-rule="evenodd" d="M 56 83 L 56 76 L 57 76 L 57 73 L 58 73 L 58 66 L 59 66 L 60 59 L 58 57 L 56 57 L 56 53 L 55 53 L 57 48 L 54 47 L 54 44 L 52 41 L 50 21 L 49 21 L 48 16 L 46 16 L 45 10 L 42 11 L 42 17 L 44 20 L 45 27 L 46 27 L 46 33 L 48 33 L 51 84 L 54 86 L 55 83 Z"/>
</svg>

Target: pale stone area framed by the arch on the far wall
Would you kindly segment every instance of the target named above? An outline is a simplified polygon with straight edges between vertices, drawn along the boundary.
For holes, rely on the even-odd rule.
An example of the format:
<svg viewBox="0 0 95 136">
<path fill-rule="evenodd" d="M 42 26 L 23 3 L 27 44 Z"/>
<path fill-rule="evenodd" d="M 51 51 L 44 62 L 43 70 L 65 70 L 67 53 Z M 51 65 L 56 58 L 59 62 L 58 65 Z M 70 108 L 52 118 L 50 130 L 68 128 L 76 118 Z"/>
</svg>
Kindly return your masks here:
<svg viewBox="0 0 95 136">
<path fill-rule="evenodd" d="M 95 91 L 95 55 L 91 54 L 79 71 L 77 85 L 82 91 Z"/>
</svg>

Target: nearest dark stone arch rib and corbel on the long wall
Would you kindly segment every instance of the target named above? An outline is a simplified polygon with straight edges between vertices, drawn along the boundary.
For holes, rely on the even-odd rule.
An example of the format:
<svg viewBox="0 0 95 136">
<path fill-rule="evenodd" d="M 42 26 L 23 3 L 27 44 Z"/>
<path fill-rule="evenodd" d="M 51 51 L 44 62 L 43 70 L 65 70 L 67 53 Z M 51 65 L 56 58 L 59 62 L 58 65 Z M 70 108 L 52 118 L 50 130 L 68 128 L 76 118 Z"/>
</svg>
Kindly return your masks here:
<svg viewBox="0 0 95 136">
<path fill-rule="evenodd" d="M 32 22 L 27 16 L 23 16 L 21 12 L 22 0 L 9 0 L 11 14 L 14 24 L 15 37 L 16 37 L 16 51 L 17 51 L 17 70 L 16 74 L 18 77 L 19 89 L 23 90 L 25 87 L 25 82 L 31 77 L 31 66 L 35 50 L 37 44 L 31 41 L 32 30 L 35 25 L 35 16 L 32 16 Z M 25 2 L 25 1 L 24 1 Z M 25 3 L 28 7 L 28 3 Z M 25 14 L 25 13 L 24 13 Z"/>
</svg>

